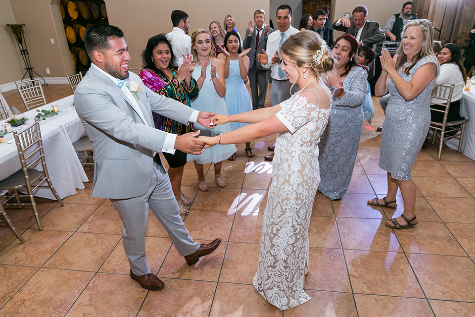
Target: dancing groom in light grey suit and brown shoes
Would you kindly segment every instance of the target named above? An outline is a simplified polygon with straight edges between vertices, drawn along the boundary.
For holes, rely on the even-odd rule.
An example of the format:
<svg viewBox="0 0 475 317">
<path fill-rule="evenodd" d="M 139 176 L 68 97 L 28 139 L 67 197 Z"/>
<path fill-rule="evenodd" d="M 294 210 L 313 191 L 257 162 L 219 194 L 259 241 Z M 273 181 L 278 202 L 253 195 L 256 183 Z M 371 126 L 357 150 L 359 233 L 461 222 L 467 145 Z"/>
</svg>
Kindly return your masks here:
<svg viewBox="0 0 475 317">
<path fill-rule="evenodd" d="M 119 213 L 131 278 L 143 288 L 162 289 L 164 283 L 146 263 L 148 208 L 189 265 L 213 252 L 221 239 L 201 245 L 191 239 L 158 154 L 175 149 L 200 154 L 204 143 L 195 138 L 199 131 L 177 136 L 155 129 L 151 111 L 208 127 L 213 113 L 192 110 L 153 93 L 136 74 L 129 77 L 130 55 L 118 27 L 92 26 L 84 42 L 92 64 L 76 88 L 74 106 L 93 144 L 93 197 L 109 198 Z"/>
</svg>

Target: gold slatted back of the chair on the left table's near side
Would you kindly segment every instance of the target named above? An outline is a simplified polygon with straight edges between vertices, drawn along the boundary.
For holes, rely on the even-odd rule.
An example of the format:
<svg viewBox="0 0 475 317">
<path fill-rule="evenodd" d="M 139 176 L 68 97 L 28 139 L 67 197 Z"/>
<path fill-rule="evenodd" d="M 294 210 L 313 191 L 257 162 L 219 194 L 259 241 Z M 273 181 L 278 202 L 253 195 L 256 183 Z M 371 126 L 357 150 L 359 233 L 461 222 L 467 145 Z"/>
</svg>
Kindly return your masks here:
<svg viewBox="0 0 475 317">
<path fill-rule="evenodd" d="M 13 131 L 18 156 L 20 157 L 21 169 L 25 176 L 27 187 L 31 188 L 30 179 L 28 177 L 28 168 L 33 168 L 41 161 L 43 172 L 49 179 L 46 166 L 45 152 L 43 150 L 43 141 L 41 139 L 40 121 L 36 118 L 28 128 L 21 132 Z"/>
</svg>

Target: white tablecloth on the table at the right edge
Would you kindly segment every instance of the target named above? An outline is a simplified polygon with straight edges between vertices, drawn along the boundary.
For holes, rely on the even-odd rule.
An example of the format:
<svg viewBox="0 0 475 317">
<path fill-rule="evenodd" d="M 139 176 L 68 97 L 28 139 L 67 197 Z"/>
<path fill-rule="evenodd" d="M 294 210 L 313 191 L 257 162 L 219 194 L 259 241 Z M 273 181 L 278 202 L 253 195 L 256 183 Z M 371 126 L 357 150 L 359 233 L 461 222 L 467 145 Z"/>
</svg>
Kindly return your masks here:
<svg viewBox="0 0 475 317">
<path fill-rule="evenodd" d="M 475 160 L 475 85 L 472 85 L 470 91 L 464 91 L 460 101 L 460 115 L 469 119 L 465 125 L 464 140 L 462 142 L 462 153 Z M 459 140 L 449 139 L 445 142 L 449 148 L 457 150 Z"/>
</svg>

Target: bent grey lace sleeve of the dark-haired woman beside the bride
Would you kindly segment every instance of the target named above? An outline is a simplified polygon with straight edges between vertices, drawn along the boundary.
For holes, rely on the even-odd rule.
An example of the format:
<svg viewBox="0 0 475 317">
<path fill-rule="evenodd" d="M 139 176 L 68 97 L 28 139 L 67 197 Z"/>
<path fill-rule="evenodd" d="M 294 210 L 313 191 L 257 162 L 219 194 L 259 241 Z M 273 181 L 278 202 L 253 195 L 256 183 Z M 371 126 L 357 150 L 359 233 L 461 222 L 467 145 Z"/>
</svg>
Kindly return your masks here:
<svg viewBox="0 0 475 317">
<path fill-rule="evenodd" d="M 367 77 L 368 73 L 363 67 L 353 68 L 343 81 L 345 94 L 341 99 L 332 97 L 332 104 L 349 107 L 361 106 L 366 96 Z"/>
</svg>

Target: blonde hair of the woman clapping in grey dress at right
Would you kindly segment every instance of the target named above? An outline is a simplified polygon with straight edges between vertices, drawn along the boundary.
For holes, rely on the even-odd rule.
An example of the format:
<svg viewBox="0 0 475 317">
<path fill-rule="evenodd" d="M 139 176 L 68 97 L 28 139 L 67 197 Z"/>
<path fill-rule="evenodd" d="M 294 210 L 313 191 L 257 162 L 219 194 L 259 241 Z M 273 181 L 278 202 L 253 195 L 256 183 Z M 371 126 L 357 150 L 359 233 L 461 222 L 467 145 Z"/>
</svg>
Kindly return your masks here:
<svg viewBox="0 0 475 317">
<path fill-rule="evenodd" d="M 421 60 L 422 58 L 424 58 L 426 56 L 434 56 L 435 57 L 434 50 L 432 48 L 432 41 L 434 39 L 434 31 L 432 29 L 432 23 L 430 23 L 429 20 L 426 20 L 426 19 L 411 20 L 404 27 L 403 35 L 406 33 L 407 28 L 410 27 L 410 26 L 418 26 L 421 29 L 422 38 L 424 40 L 424 43 L 423 43 L 423 46 L 422 46 L 422 50 L 420 51 L 420 52 L 422 52 L 422 55 L 421 55 L 421 53 L 417 53 L 414 56 L 414 60 L 412 61 L 412 63 L 410 65 L 408 65 L 406 67 L 406 69 L 404 70 L 404 73 L 406 75 L 409 75 L 409 71 L 411 70 L 411 68 L 414 67 L 416 65 L 416 63 L 419 60 Z M 402 67 L 404 65 L 405 62 L 407 62 L 407 56 L 406 56 L 406 54 L 404 54 L 402 45 L 399 46 L 399 49 L 397 49 L 396 54 L 398 54 L 398 56 L 397 56 L 397 59 L 396 59 L 396 66 L 395 67 L 396 67 L 396 69 L 399 69 L 400 67 Z"/>
</svg>

